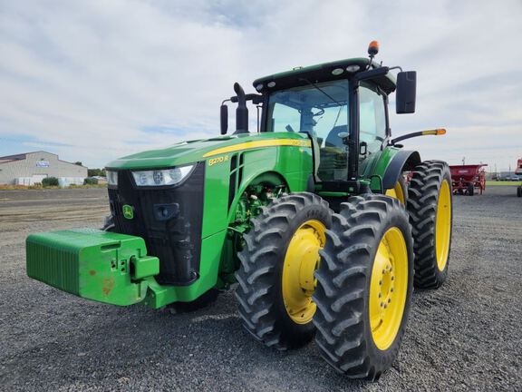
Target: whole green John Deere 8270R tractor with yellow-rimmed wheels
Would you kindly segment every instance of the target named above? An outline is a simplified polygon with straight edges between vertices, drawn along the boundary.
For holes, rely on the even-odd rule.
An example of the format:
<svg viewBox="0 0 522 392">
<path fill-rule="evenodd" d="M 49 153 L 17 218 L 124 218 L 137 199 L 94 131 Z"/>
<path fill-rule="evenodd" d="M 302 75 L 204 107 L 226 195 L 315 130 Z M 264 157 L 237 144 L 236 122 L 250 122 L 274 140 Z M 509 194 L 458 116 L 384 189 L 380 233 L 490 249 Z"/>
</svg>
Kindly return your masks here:
<svg viewBox="0 0 522 392">
<path fill-rule="evenodd" d="M 377 379 L 401 345 L 413 287 L 448 273 L 451 179 L 391 138 L 389 95 L 414 113 L 416 73 L 370 58 L 295 68 L 221 105 L 221 136 L 107 165 L 104 230 L 27 238 L 27 274 L 114 305 L 190 309 L 237 283 L 266 346 L 315 339 L 348 377 Z M 227 135 L 227 105 L 237 103 Z M 249 132 L 247 103 L 258 109 Z M 406 179 L 409 181 L 406 181 Z"/>
</svg>

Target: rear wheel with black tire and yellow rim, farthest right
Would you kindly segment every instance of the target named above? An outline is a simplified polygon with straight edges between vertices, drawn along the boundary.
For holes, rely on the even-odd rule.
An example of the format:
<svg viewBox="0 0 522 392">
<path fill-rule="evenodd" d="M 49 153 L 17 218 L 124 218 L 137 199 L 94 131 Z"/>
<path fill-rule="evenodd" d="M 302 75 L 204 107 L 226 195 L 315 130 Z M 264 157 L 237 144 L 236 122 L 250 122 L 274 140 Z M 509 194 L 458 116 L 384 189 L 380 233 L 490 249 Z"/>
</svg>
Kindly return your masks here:
<svg viewBox="0 0 522 392">
<path fill-rule="evenodd" d="M 453 218 L 451 195 L 448 163 L 426 161 L 415 168 L 408 194 L 408 212 L 417 288 L 437 289 L 448 276 Z"/>
</svg>

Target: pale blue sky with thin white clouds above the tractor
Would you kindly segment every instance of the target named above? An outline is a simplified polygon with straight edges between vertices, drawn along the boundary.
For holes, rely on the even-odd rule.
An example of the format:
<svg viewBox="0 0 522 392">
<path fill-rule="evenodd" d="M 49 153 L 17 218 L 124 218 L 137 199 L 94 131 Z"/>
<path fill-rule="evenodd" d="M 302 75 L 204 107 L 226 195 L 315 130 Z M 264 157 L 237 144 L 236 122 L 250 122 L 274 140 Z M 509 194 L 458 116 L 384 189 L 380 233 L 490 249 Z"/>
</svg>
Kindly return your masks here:
<svg viewBox="0 0 522 392">
<path fill-rule="evenodd" d="M 521 21 L 520 0 L 0 0 L 0 156 L 96 168 L 216 136 L 233 83 L 253 93 L 257 77 L 366 56 L 377 40 L 377 60 L 417 71 L 417 111 L 392 114 L 393 135 L 448 130 L 405 148 L 514 169 Z"/>
</svg>

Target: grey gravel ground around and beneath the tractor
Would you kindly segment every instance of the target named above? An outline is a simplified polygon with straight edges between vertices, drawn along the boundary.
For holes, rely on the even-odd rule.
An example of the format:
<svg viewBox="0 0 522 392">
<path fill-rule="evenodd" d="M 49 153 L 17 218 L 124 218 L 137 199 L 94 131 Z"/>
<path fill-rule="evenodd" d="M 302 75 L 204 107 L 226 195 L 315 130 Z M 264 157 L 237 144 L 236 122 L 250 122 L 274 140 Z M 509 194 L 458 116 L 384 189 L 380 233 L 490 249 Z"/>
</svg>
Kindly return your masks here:
<svg viewBox="0 0 522 392">
<path fill-rule="evenodd" d="M 2 390 L 520 390 L 522 200 L 454 198 L 449 280 L 416 291 L 401 354 L 377 383 L 338 375 L 314 344 L 264 348 L 231 292 L 172 315 L 89 302 L 28 279 L 33 231 L 99 227 L 105 190 L 0 191 Z"/>
</svg>

